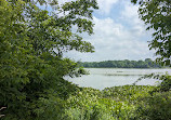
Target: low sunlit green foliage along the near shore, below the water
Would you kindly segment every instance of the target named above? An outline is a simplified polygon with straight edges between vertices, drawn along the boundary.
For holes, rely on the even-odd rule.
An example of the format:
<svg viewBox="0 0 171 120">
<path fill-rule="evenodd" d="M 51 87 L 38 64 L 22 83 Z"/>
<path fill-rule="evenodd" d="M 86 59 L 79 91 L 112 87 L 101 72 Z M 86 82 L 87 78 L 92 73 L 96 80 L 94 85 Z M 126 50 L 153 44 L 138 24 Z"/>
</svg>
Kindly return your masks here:
<svg viewBox="0 0 171 120">
<path fill-rule="evenodd" d="M 155 89 L 146 85 L 103 91 L 80 88 L 67 99 L 63 117 L 65 120 L 169 120 L 171 92 L 152 94 Z"/>
</svg>

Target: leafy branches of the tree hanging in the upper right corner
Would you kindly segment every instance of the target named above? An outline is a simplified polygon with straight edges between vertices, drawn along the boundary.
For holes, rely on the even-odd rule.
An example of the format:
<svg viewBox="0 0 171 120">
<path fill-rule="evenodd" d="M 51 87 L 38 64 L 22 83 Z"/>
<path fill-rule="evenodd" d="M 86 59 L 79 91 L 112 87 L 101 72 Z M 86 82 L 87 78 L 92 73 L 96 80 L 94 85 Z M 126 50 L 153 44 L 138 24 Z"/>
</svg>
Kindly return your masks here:
<svg viewBox="0 0 171 120">
<path fill-rule="evenodd" d="M 171 1 L 170 0 L 131 0 L 139 1 L 141 19 L 153 29 L 153 40 L 149 49 L 156 50 L 157 62 L 171 66 Z"/>
</svg>

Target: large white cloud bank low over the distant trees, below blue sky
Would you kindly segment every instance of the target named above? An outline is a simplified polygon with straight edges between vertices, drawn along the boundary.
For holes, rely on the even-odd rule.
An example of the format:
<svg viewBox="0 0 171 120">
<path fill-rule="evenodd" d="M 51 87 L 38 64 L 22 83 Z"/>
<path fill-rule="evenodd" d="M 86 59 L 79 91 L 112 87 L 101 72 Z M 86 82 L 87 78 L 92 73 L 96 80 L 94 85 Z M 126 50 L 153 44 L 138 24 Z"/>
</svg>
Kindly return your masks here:
<svg viewBox="0 0 171 120">
<path fill-rule="evenodd" d="M 68 56 L 82 61 L 144 59 L 153 56 L 148 43 L 137 38 L 137 32 L 132 32 L 109 17 L 105 19 L 94 17 L 94 23 L 95 35 L 86 40 L 95 46 L 95 53 L 74 52 L 68 53 Z"/>
</svg>

